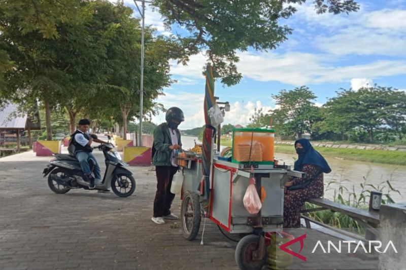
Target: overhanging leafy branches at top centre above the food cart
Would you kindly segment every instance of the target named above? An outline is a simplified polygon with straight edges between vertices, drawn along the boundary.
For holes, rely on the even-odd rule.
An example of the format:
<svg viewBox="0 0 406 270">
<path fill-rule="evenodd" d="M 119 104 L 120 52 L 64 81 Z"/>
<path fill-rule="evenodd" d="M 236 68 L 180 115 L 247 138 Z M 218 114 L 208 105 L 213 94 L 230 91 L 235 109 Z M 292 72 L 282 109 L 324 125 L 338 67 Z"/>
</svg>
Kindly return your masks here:
<svg viewBox="0 0 406 270">
<path fill-rule="evenodd" d="M 227 86 L 238 84 L 242 78 L 236 68 L 236 51 L 272 50 L 287 40 L 292 29 L 280 25 L 297 9 L 294 4 L 306 0 L 155 0 L 168 28 L 173 24 L 185 29 L 173 37 L 178 42 L 174 55 L 186 63 L 190 55 L 207 50 L 214 66 L 214 75 Z M 314 0 L 317 13 L 334 14 L 359 9 L 354 0 Z M 296 5 L 297 6 L 297 5 Z"/>
</svg>

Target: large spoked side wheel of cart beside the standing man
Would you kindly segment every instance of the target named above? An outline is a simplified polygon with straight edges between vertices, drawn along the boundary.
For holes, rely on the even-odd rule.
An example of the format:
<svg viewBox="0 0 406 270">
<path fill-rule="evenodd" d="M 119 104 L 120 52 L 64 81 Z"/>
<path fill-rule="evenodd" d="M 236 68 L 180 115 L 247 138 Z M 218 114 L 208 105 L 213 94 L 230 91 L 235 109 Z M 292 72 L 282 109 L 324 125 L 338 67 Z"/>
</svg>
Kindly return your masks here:
<svg viewBox="0 0 406 270">
<path fill-rule="evenodd" d="M 200 202 L 196 192 L 187 191 L 181 206 L 183 236 L 187 240 L 196 238 L 200 227 Z"/>
</svg>

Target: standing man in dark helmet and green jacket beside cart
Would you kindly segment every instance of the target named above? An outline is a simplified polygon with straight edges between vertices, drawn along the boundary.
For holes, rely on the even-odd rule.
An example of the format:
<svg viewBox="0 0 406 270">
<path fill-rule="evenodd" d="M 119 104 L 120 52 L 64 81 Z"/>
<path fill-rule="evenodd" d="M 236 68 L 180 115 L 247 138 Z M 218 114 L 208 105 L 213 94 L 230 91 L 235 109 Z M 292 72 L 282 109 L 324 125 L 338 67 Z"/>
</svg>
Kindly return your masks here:
<svg viewBox="0 0 406 270">
<path fill-rule="evenodd" d="M 154 131 L 153 164 L 156 171 L 156 195 L 154 215 L 151 218 L 157 224 L 164 224 L 165 219 L 178 219 L 171 213 L 175 194 L 171 193 L 172 179 L 178 171 L 176 150 L 181 149 L 181 133 L 178 126 L 185 121 L 183 111 L 178 107 L 166 111 L 166 123 L 160 124 Z"/>
</svg>

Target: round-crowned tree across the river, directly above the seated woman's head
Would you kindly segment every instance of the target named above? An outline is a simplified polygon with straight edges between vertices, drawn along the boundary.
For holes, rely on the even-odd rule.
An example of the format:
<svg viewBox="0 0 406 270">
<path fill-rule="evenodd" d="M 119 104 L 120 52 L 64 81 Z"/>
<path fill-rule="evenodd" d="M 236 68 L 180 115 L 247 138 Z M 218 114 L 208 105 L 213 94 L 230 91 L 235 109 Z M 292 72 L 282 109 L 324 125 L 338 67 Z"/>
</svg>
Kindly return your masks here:
<svg viewBox="0 0 406 270">
<path fill-rule="evenodd" d="M 320 114 L 313 103 L 317 97 L 308 87 L 281 90 L 272 97 L 279 107 L 272 110 L 270 117 L 281 135 L 300 138 L 304 132 L 313 133 L 313 126 L 320 119 Z"/>
</svg>

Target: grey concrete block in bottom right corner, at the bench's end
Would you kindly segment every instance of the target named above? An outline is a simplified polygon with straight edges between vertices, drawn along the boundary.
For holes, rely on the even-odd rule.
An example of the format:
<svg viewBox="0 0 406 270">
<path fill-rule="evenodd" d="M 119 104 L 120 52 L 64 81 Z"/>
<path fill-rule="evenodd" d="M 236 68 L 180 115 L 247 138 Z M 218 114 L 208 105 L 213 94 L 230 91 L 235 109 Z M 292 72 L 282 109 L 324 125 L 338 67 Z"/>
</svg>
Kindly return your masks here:
<svg viewBox="0 0 406 270">
<path fill-rule="evenodd" d="M 379 269 L 404 269 L 406 265 L 406 203 L 382 205 L 380 209 L 380 240 L 385 247 L 393 242 L 398 253 L 388 249 L 379 254 Z"/>
</svg>

